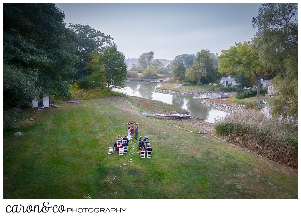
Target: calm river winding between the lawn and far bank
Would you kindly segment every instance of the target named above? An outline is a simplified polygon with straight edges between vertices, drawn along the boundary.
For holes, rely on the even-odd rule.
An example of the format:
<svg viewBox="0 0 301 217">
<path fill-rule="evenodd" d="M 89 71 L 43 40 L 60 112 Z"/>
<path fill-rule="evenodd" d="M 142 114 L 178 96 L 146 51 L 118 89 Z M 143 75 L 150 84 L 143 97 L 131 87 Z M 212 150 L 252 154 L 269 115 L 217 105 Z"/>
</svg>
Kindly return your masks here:
<svg viewBox="0 0 301 217">
<path fill-rule="evenodd" d="M 116 89 L 129 96 L 138 96 L 146 99 L 158 100 L 164 103 L 177 105 L 192 113 L 192 116 L 213 123 L 215 118 L 225 116 L 225 112 L 213 107 L 201 104 L 202 99 L 192 99 L 192 96 L 184 96 L 154 91 L 154 88 L 163 84 L 145 81 L 124 81 L 126 87 Z"/>
</svg>

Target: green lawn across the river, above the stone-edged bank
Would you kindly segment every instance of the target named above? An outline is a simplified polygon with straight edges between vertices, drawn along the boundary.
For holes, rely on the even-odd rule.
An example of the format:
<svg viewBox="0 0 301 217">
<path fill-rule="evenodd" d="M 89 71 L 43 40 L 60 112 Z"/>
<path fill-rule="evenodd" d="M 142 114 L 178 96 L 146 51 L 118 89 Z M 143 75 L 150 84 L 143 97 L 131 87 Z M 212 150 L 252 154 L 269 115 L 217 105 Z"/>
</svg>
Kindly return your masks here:
<svg viewBox="0 0 301 217">
<path fill-rule="evenodd" d="M 186 92 L 219 92 L 220 87 L 215 87 L 214 91 L 210 90 L 213 87 L 209 86 L 208 84 L 201 85 L 200 87 L 197 87 L 196 85 L 192 86 L 181 86 L 180 88 L 176 87 L 177 84 L 170 84 L 167 83 L 165 86 L 157 87 L 158 89 L 163 90 L 174 90 L 174 91 L 186 91 Z"/>
</svg>

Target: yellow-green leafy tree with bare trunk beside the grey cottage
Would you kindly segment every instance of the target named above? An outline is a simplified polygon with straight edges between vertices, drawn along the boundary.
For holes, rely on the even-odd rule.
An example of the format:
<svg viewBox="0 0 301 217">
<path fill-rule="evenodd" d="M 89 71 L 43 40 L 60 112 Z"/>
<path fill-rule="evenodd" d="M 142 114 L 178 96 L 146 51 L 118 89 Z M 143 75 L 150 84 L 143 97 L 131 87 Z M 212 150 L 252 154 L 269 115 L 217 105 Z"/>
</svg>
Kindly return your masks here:
<svg viewBox="0 0 301 217">
<path fill-rule="evenodd" d="M 257 95 L 260 96 L 260 83 L 262 75 L 268 75 L 269 68 L 264 67 L 258 60 L 258 53 L 252 46 L 252 42 L 235 43 L 235 47 L 229 50 L 222 50 L 219 59 L 219 73 L 224 74 L 244 74 L 250 77 L 254 74 L 257 83 Z"/>
</svg>

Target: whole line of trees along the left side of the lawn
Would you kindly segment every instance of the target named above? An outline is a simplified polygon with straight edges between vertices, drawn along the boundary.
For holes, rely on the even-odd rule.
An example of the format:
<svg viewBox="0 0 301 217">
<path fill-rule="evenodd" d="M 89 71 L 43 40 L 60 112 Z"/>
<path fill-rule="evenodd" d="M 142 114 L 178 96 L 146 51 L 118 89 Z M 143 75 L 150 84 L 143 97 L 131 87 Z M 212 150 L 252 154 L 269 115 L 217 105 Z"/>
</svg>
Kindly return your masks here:
<svg viewBox="0 0 301 217">
<path fill-rule="evenodd" d="M 121 87 L 124 54 L 110 35 L 70 23 L 53 3 L 3 4 L 3 117 L 15 121 L 41 96 L 70 97 L 79 88 Z"/>
</svg>

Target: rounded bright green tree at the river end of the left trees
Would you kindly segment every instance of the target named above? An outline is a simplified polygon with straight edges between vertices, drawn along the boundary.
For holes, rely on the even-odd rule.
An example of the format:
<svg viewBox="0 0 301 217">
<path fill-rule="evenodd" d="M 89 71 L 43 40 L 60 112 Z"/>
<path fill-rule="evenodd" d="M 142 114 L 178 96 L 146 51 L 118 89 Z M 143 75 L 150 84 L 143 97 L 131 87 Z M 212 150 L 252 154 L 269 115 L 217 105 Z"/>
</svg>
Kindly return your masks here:
<svg viewBox="0 0 301 217">
<path fill-rule="evenodd" d="M 117 50 L 117 47 L 111 46 L 99 54 L 98 61 L 104 67 L 104 82 L 110 91 L 111 87 L 122 88 L 123 81 L 126 80 L 126 63 L 124 54 Z"/>
</svg>

